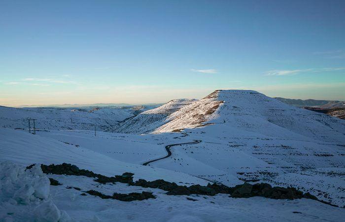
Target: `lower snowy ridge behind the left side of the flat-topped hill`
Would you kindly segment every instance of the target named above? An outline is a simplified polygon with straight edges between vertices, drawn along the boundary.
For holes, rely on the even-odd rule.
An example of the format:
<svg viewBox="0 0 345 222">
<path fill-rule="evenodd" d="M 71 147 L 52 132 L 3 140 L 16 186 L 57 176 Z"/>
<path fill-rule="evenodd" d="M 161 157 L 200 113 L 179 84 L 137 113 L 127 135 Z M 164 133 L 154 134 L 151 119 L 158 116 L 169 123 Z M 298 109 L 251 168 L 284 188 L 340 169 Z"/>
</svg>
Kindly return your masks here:
<svg viewBox="0 0 345 222">
<path fill-rule="evenodd" d="M 195 102 L 193 99 L 172 100 L 156 109 L 144 111 L 107 129 L 113 133 L 143 134 L 152 132 L 166 122 L 166 117 L 175 111 Z"/>
</svg>

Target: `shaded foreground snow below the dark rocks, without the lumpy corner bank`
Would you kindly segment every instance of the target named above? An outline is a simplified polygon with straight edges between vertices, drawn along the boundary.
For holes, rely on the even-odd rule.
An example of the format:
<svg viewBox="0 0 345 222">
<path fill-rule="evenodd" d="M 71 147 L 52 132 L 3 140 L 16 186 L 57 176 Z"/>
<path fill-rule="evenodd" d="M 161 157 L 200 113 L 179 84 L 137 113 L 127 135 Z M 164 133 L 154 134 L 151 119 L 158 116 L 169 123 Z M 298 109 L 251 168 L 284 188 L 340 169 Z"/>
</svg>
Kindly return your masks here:
<svg viewBox="0 0 345 222">
<path fill-rule="evenodd" d="M 343 209 L 331 207 L 308 199 L 272 200 L 261 197 L 229 198 L 225 194 L 216 196 L 191 196 L 197 201 L 187 200 L 187 196 L 166 195 L 163 190 L 115 185 L 99 185 L 86 177 L 53 175 L 62 186 L 52 187 L 52 196 L 57 206 L 66 210 L 71 217 L 80 221 L 157 221 L 157 222 L 226 222 L 226 221 L 337 221 L 345 215 Z M 76 186 L 81 191 L 66 189 Z M 144 201 L 121 202 L 118 200 L 101 199 L 94 196 L 81 196 L 84 190 L 95 189 L 104 194 L 114 191 L 153 192 L 156 199 Z M 213 202 L 213 203 L 212 203 Z M 301 212 L 295 214 L 293 212 Z M 253 217 L 253 215 L 255 215 Z"/>
</svg>

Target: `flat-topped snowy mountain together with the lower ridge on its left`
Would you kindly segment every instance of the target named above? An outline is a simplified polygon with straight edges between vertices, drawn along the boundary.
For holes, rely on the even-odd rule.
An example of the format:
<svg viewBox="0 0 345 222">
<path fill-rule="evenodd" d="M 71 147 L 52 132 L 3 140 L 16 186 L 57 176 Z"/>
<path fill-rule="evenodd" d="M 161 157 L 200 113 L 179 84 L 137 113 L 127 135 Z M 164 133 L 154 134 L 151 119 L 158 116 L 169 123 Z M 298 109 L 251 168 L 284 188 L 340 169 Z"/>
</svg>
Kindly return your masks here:
<svg viewBox="0 0 345 222">
<path fill-rule="evenodd" d="M 295 108 L 251 90 L 216 90 L 199 101 L 173 100 L 126 119 L 108 131 L 162 133 L 210 124 L 267 136 L 298 134 L 329 142 L 338 141 L 345 132 L 343 120 Z"/>
</svg>

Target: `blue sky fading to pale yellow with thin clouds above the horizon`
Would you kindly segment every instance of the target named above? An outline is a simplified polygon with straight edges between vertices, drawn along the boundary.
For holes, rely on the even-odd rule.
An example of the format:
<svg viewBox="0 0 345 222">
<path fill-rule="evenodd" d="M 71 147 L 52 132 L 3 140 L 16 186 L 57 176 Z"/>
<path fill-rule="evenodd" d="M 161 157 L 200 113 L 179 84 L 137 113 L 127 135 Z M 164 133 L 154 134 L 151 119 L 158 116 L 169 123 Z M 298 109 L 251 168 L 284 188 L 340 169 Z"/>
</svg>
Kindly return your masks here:
<svg viewBox="0 0 345 222">
<path fill-rule="evenodd" d="M 0 0 L 0 105 L 345 100 L 345 0 Z"/>
</svg>

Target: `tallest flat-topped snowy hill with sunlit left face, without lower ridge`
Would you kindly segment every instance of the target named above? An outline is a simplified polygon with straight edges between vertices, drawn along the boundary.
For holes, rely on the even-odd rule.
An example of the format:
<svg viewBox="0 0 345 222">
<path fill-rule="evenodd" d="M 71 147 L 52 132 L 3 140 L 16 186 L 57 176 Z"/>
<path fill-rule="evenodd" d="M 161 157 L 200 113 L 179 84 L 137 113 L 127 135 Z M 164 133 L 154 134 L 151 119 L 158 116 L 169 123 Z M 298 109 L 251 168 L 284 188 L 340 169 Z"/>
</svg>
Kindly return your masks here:
<svg viewBox="0 0 345 222">
<path fill-rule="evenodd" d="M 221 104 L 217 108 L 214 104 Z M 211 110 L 211 111 L 210 111 Z M 199 121 L 199 119 L 204 121 Z M 216 90 L 206 98 L 173 113 L 155 132 L 190 128 L 197 124 L 224 125 L 276 137 L 309 137 L 324 142 L 345 138 L 344 120 L 295 108 L 251 90 Z M 206 121 L 205 121 L 206 120 Z"/>
</svg>

